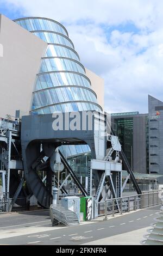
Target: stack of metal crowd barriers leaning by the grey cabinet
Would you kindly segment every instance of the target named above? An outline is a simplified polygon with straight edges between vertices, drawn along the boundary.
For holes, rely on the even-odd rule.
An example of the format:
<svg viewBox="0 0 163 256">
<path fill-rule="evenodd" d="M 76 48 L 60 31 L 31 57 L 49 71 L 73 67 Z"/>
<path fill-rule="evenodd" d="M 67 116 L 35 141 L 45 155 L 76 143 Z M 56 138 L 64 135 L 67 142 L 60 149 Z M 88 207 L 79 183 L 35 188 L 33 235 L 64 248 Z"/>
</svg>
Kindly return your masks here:
<svg viewBox="0 0 163 256">
<path fill-rule="evenodd" d="M 67 226 L 79 225 L 79 220 L 76 213 L 61 205 L 51 205 L 50 216 L 52 226 L 59 224 L 59 222 Z"/>
</svg>

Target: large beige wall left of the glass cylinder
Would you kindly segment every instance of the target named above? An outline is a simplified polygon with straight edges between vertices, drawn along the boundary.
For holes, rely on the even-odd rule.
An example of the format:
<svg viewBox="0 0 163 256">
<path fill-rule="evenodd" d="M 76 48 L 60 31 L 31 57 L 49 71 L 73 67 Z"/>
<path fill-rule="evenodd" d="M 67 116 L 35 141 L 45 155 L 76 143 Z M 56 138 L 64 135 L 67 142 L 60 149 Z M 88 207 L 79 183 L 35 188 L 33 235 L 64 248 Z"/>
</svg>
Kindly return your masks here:
<svg viewBox="0 0 163 256">
<path fill-rule="evenodd" d="M 16 109 L 26 114 L 32 104 L 35 78 L 47 43 L 18 26 L 7 17 L 0 16 L 0 117 L 15 116 Z"/>
</svg>

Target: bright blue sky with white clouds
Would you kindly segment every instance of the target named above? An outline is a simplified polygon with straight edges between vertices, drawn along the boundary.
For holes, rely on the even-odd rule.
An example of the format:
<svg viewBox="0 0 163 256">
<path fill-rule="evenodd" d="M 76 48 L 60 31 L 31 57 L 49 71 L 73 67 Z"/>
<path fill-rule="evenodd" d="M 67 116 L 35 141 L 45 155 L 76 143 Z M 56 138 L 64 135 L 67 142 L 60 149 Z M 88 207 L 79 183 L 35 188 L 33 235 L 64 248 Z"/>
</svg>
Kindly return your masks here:
<svg viewBox="0 0 163 256">
<path fill-rule="evenodd" d="M 148 112 L 163 100 L 163 1 L 0 0 L 10 19 L 44 16 L 65 25 L 86 68 L 105 81 L 105 110 Z"/>
</svg>

